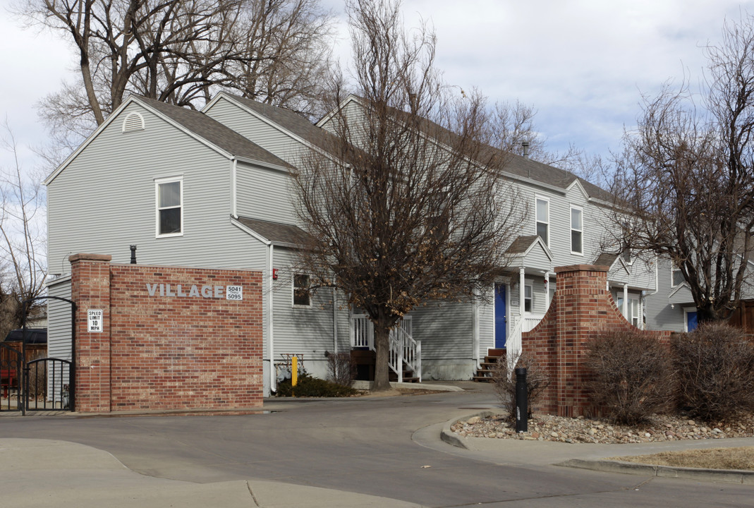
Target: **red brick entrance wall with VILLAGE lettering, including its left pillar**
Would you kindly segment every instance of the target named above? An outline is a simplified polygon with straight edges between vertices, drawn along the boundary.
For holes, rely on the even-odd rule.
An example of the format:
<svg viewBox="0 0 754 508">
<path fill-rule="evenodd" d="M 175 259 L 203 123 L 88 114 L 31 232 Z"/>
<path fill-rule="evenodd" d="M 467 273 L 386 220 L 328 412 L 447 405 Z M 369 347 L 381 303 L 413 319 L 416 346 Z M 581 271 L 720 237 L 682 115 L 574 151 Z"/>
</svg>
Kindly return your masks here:
<svg viewBox="0 0 754 508">
<path fill-rule="evenodd" d="M 70 257 L 76 411 L 262 405 L 259 272 L 111 265 L 110 259 Z M 243 299 L 226 299 L 226 286 L 242 286 Z M 90 309 L 103 311 L 102 332 L 87 331 Z"/>
</svg>

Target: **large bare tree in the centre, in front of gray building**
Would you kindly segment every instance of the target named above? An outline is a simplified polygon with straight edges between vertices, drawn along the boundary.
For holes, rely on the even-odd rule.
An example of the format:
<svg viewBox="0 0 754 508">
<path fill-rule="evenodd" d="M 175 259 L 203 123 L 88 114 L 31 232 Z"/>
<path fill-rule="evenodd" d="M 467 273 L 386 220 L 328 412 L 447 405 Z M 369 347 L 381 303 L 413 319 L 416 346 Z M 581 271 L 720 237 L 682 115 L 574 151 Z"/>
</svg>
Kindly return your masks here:
<svg viewBox="0 0 754 508">
<path fill-rule="evenodd" d="M 329 155 L 311 154 L 294 179 L 311 238 L 302 262 L 374 325 L 373 390 L 389 388 L 390 330 L 420 304 L 488 293 L 523 213 L 483 99 L 450 93 L 434 34 L 404 31 L 399 8 L 347 3 L 357 98 L 344 106 L 335 87 Z"/>
</svg>

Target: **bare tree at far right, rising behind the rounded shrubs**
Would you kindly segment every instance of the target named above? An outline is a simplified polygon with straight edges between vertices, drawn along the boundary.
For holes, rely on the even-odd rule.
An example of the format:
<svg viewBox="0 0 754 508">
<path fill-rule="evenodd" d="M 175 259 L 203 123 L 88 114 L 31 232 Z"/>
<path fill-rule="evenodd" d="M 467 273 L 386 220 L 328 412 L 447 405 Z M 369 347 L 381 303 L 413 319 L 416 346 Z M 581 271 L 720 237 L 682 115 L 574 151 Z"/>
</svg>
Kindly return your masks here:
<svg viewBox="0 0 754 508">
<path fill-rule="evenodd" d="M 751 277 L 754 233 L 754 18 L 706 47 L 700 96 L 666 84 L 624 136 L 613 191 L 632 249 L 671 259 L 700 321 L 725 320 Z M 696 99 L 696 100 L 695 100 Z M 697 106 L 697 103 L 699 106 Z"/>
</svg>

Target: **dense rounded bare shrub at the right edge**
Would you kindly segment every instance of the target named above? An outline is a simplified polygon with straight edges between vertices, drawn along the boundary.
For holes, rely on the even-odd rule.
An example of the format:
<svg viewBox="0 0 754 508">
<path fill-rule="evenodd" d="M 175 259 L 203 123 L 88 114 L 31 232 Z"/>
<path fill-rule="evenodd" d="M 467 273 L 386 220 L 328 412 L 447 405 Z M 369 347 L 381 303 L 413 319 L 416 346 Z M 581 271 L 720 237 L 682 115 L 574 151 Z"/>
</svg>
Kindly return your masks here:
<svg viewBox="0 0 754 508">
<path fill-rule="evenodd" d="M 702 324 L 673 338 L 679 403 L 706 421 L 754 411 L 754 344 L 743 331 Z"/>
</svg>

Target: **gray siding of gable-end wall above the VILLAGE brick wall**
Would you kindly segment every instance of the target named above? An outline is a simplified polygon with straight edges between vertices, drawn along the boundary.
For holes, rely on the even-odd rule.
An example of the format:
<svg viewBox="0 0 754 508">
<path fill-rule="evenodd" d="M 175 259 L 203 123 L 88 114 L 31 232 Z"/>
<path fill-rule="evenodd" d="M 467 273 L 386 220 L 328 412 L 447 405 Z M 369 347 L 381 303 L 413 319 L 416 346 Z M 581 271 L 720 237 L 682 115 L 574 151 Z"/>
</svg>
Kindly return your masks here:
<svg viewBox="0 0 754 508">
<path fill-rule="evenodd" d="M 121 133 L 139 111 L 146 129 Z M 143 264 L 261 269 L 264 252 L 230 222 L 231 161 L 151 112 L 132 104 L 48 186 L 48 260 L 70 270 L 76 252 Z M 155 179 L 182 176 L 183 235 L 157 238 Z"/>
</svg>

